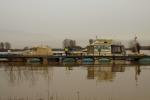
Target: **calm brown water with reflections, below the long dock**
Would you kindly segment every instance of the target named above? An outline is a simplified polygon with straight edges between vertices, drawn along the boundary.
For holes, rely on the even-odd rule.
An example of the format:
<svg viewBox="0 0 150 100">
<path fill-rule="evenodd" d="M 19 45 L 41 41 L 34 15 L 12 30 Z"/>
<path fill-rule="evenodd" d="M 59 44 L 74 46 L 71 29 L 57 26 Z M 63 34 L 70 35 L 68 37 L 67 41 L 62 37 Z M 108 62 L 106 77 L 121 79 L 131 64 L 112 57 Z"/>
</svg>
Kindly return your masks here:
<svg viewBox="0 0 150 100">
<path fill-rule="evenodd" d="M 150 66 L 1 64 L 0 100 L 149 100 Z"/>
</svg>

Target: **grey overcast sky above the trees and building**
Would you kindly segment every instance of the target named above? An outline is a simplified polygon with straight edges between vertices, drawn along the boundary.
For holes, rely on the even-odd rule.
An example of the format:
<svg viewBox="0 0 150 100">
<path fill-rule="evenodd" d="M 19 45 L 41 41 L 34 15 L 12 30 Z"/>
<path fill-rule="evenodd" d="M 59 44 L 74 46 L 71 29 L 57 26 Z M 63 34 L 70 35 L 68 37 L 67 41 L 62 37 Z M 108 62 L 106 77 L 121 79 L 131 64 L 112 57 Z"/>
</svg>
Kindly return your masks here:
<svg viewBox="0 0 150 100">
<path fill-rule="evenodd" d="M 15 48 L 62 47 L 65 38 L 85 46 L 89 38 L 150 44 L 150 0 L 0 0 L 0 41 Z M 144 42 L 146 41 L 146 42 Z"/>
</svg>

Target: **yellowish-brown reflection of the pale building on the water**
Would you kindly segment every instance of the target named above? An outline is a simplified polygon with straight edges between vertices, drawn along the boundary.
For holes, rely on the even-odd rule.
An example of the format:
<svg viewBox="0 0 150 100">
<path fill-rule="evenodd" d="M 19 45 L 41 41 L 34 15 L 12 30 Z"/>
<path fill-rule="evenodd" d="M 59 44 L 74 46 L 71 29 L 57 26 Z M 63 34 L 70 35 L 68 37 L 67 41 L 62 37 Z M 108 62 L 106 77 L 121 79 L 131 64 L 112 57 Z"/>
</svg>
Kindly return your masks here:
<svg viewBox="0 0 150 100">
<path fill-rule="evenodd" d="M 103 65 L 97 67 L 87 67 L 87 79 L 96 78 L 98 81 L 113 81 L 116 72 L 124 72 L 123 65 Z"/>
</svg>

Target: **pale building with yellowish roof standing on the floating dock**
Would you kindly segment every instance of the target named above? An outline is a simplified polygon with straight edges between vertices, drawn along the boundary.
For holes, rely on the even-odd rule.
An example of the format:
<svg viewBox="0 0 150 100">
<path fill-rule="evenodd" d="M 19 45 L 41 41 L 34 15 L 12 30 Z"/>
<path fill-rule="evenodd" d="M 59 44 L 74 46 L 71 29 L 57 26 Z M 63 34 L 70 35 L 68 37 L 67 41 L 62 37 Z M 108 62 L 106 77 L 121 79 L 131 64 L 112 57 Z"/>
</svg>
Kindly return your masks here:
<svg viewBox="0 0 150 100">
<path fill-rule="evenodd" d="M 89 55 L 124 55 L 125 48 L 120 42 L 115 42 L 111 39 L 96 39 L 87 47 Z"/>
</svg>

